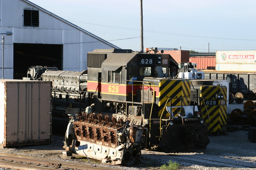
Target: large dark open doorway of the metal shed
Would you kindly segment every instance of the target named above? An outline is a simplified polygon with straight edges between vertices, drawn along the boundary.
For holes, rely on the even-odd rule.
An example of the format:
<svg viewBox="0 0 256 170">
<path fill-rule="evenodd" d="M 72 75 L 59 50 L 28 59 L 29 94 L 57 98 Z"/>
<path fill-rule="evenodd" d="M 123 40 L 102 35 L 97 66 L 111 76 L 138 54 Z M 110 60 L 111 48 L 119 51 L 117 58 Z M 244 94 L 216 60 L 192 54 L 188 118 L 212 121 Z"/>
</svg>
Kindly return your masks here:
<svg viewBox="0 0 256 170">
<path fill-rule="evenodd" d="M 27 77 L 31 66 L 57 67 L 62 70 L 63 45 L 13 44 L 13 79 Z"/>
</svg>

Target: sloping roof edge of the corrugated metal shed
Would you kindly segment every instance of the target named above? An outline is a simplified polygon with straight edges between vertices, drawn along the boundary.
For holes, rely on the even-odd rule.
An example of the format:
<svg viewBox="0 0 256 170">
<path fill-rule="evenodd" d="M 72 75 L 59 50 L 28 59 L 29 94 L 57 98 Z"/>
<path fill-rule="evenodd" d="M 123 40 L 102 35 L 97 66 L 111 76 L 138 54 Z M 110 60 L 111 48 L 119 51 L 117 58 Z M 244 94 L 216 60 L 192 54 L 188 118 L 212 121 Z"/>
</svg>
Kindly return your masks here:
<svg viewBox="0 0 256 170">
<path fill-rule="evenodd" d="M 114 48 L 121 49 L 121 48 L 117 47 L 116 45 L 114 45 L 114 44 L 112 44 L 112 43 L 110 43 L 110 42 L 108 42 L 108 41 L 106 41 L 106 40 L 103 40 L 102 38 L 98 37 L 97 35 L 94 35 L 93 33 L 90 33 L 90 32 L 88 32 L 88 31 L 86 31 L 85 29 L 83 29 L 83 28 L 81 28 L 81 27 L 79 27 L 79 26 L 77 26 L 77 25 L 75 25 L 75 24 L 73 24 L 73 23 L 67 21 L 66 19 L 63 19 L 63 18 L 59 17 L 58 15 L 55 15 L 54 13 L 52 13 L 52 12 L 50 12 L 50 11 L 45 10 L 44 8 L 42 8 L 42 7 L 36 5 L 36 4 L 34 4 L 34 3 L 32 3 L 32 2 L 30 2 L 30 1 L 28 1 L 28 0 L 21 0 L 21 1 L 23 1 L 23 2 L 25 2 L 25 3 L 27 3 L 27 4 L 30 4 L 30 5 L 32 5 L 32 6 L 36 7 L 36 8 L 38 8 L 38 9 L 40 9 L 41 11 L 44 11 L 44 12 L 48 13 L 49 15 L 51 15 L 51 16 L 53 16 L 53 17 L 55 17 L 55 18 L 60 19 L 61 21 L 65 22 L 66 24 L 68 24 L 68 25 L 70 25 L 70 26 L 73 26 L 73 27 L 75 27 L 76 29 L 78 29 L 78 30 L 80 30 L 80 31 L 82 31 L 82 32 L 84 32 L 84 33 L 86 33 L 86 34 L 88 34 L 88 35 L 90 35 L 90 36 L 92 36 L 92 37 L 94 37 L 94 38 L 96 38 L 96 39 L 98 39 L 98 40 L 100 40 L 100 41 L 102 41 L 102 42 L 104 42 L 104 43 L 106 43 L 106 44 L 112 46 L 112 47 L 114 47 Z"/>
</svg>

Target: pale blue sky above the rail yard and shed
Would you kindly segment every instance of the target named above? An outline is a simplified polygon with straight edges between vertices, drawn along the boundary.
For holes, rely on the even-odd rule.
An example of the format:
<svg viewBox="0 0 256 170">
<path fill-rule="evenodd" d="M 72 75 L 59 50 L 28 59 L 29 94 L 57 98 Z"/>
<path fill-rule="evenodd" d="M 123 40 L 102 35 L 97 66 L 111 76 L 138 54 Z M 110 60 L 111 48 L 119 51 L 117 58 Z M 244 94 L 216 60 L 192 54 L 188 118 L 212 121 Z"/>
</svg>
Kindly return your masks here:
<svg viewBox="0 0 256 170">
<path fill-rule="evenodd" d="M 29 0 L 122 49 L 140 51 L 140 0 Z M 256 0 L 143 0 L 143 46 L 256 50 Z"/>
</svg>

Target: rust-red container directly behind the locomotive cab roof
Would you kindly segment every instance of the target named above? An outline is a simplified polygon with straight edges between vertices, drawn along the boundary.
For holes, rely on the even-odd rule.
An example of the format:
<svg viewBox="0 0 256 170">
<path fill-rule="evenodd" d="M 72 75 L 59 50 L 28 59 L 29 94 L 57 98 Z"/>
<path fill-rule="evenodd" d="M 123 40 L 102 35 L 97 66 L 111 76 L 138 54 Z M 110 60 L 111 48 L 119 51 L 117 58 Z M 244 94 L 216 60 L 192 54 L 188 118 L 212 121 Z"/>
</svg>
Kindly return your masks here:
<svg viewBox="0 0 256 170">
<path fill-rule="evenodd" d="M 177 63 L 188 63 L 189 62 L 189 51 L 188 50 L 163 50 L 163 54 L 170 54 Z M 154 51 L 150 51 L 154 53 Z M 158 53 L 161 53 L 158 50 Z"/>
</svg>

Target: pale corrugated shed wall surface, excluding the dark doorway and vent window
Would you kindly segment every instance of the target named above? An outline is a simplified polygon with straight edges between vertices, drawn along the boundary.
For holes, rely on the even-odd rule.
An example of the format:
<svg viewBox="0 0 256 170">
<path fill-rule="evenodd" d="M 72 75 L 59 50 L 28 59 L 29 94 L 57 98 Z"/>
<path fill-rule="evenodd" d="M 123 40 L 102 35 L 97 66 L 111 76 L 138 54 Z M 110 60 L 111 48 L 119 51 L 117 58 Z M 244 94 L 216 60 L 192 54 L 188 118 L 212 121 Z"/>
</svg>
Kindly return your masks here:
<svg viewBox="0 0 256 170">
<path fill-rule="evenodd" d="M 24 9 L 39 10 L 38 27 L 23 26 Z M 0 19 L 0 33 L 13 33 L 4 36 L 4 78 L 13 78 L 13 43 L 63 44 L 63 70 L 68 71 L 87 69 L 89 51 L 118 48 L 27 0 L 0 0 Z"/>
</svg>

